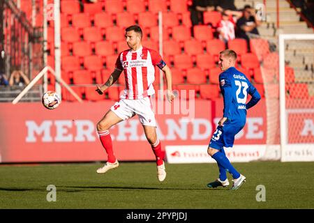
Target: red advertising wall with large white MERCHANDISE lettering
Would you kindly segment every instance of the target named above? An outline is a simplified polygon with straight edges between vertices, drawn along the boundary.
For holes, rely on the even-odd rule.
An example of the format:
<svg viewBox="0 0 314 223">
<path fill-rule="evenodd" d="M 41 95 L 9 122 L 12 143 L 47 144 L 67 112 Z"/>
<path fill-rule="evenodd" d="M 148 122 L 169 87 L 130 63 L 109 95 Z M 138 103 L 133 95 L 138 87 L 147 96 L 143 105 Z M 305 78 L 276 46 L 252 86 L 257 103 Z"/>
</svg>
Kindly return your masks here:
<svg viewBox="0 0 314 223">
<path fill-rule="evenodd" d="M 195 105 L 172 105 L 154 109 L 158 137 L 165 146 L 204 146 L 222 115 L 223 100 L 193 100 Z M 111 101 L 62 102 L 47 110 L 40 102 L 0 104 L 1 162 L 88 162 L 106 160 L 98 139 L 96 123 Z M 167 102 L 163 103 L 163 106 Z M 185 109 L 184 109 L 185 108 Z M 244 130 L 235 144 L 265 144 L 266 116 L 264 99 L 248 110 Z M 154 160 L 137 117 L 122 121 L 110 130 L 117 158 L 121 161 Z"/>
</svg>

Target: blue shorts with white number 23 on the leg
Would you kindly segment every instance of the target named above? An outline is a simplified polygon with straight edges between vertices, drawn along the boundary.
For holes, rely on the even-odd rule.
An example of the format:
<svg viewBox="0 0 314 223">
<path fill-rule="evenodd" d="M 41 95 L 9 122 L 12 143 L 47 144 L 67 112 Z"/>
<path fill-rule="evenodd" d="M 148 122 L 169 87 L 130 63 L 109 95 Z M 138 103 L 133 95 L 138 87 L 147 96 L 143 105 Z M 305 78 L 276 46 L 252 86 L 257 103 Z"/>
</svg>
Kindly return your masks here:
<svg viewBox="0 0 314 223">
<path fill-rule="evenodd" d="M 218 126 L 211 137 L 209 147 L 218 150 L 223 147 L 232 147 L 235 135 L 244 128 L 244 125 L 245 123 L 231 123 L 226 121 L 223 126 Z"/>
</svg>

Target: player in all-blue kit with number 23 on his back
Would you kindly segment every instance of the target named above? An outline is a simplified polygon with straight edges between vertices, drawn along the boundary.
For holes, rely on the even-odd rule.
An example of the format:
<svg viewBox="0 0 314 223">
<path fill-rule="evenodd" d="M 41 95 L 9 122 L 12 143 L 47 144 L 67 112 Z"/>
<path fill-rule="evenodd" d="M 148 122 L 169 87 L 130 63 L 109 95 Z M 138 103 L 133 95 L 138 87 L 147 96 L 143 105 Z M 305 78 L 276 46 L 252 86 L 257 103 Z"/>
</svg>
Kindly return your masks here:
<svg viewBox="0 0 314 223">
<path fill-rule="evenodd" d="M 225 49 L 220 52 L 218 64 L 223 72 L 219 75 L 219 84 L 224 108 L 223 118 L 218 122 L 207 150 L 207 153 L 216 160 L 219 168 L 219 178 L 207 184 L 207 187 L 211 188 L 229 186 L 226 171 L 229 171 L 234 178 L 230 190 L 237 190 L 246 181 L 246 177 L 234 169 L 223 148 L 233 146 L 234 136 L 246 124 L 246 109 L 257 104 L 260 93 L 248 81 L 246 75 L 234 68 L 236 62 L 237 53 L 233 50 Z M 248 94 L 252 98 L 246 104 Z"/>
</svg>

